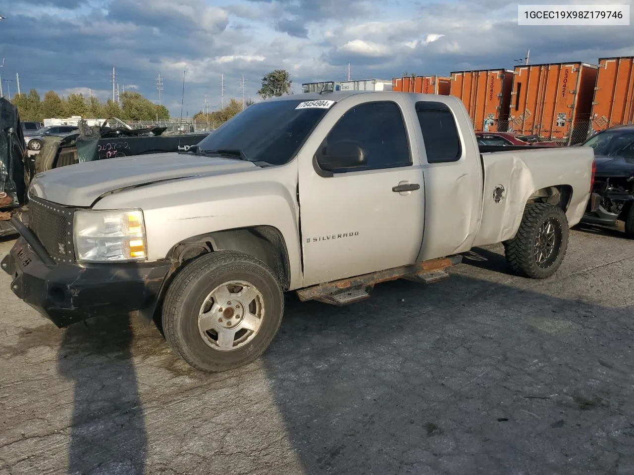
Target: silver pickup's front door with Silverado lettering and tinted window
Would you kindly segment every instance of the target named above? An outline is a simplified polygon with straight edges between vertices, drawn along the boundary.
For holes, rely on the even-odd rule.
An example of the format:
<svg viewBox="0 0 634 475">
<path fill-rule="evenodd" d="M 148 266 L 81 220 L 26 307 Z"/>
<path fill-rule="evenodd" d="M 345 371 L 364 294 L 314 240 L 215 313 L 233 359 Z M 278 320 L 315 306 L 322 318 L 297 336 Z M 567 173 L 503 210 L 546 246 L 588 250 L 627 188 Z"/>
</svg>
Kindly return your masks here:
<svg viewBox="0 0 634 475">
<path fill-rule="evenodd" d="M 312 150 L 300 157 L 304 286 L 408 265 L 420 251 L 424 179 L 413 131 L 403 120 L 406 105 L 396 98 L 363 102 L 364 95 L 348 98 L 332 126 L 315 130 L 323 141 L 314 153 L 352 142 L 365 153 L 365 165 L 328 176 L 309 156 Z"/>
</svg>

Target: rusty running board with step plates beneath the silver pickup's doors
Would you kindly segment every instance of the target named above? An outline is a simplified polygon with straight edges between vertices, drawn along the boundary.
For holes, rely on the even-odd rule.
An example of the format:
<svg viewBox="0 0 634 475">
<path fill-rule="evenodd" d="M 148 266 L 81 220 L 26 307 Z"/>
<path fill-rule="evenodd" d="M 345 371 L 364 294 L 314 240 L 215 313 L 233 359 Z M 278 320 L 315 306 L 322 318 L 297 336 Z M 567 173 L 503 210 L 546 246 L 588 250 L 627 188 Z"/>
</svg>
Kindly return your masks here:
<svg viewBox="0 0 634 475">
<path fill-rule="evenodd" d="M 413 265 L 394 267 L 393 269 L 380 270 L 372 274 L 299 289 L 297 296 L 301 301 L 317 300 L 337 306 L 348 305 L 349 303 L 356 303 L 368 298 L 370 296 L 368 291 L 381 282 L 408 279 L 414 282 L 430 284 L 441 281 L 449 277 L 446 269 L 460 262 L 462 262 L 461 255 L 432 259 Z"/>
</svg>

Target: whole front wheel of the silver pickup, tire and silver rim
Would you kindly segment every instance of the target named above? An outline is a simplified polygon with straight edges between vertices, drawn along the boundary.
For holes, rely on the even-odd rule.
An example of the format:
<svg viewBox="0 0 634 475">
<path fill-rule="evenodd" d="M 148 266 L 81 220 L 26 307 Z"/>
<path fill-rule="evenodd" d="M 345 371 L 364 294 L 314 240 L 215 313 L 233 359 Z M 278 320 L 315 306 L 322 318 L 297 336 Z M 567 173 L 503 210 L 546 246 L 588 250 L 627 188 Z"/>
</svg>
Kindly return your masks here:
<svg viewBox="0 0 634 475">
<path fill-rule="evenodd" d="M 186 265 L 169 286 L 163 330 L 191 366 L 226 371 L 264 353 L 283 312 L 280 284 L 265 263 L 217 251 Z"/>
</svg>

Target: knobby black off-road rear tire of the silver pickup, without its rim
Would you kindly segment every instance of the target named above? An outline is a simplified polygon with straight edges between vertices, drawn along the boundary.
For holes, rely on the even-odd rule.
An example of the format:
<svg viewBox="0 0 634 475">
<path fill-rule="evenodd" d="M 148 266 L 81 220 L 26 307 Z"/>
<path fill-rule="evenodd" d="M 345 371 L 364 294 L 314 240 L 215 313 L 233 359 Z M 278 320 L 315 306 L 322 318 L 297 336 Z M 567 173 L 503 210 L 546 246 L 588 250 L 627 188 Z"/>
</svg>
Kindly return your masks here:
<svg viewBox="0 0 634 475">
<path fill-rule="evenodd" d="M 555 227 L 556 242 L 553 257 L 547 265 L 540 267 L 533 255 L 534 244 L 540 226 L 546 220 L 552 220 Z M 568 220 L 559 206 L 546 203 L 527 203 L 524 216 L 513 239 L 504 243 L 508 267 L 515 274 L 531 279 L 546 279 L 557 272 L 568 248 Z"/>
</svg>

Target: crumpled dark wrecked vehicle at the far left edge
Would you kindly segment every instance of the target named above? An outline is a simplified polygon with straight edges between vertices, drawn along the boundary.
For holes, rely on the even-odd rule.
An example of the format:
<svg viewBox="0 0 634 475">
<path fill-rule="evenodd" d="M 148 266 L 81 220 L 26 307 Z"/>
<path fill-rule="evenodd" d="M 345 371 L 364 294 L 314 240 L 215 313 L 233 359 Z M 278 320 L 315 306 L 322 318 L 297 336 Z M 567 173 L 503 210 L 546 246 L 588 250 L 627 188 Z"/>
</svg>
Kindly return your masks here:
<svg viewBox="0 0 634 475">
<path fill-rule="evenodd" d="M 0 237 L 15 234 L 11 216 L 20 213 L 27 201 L 31 171 L 18 109 L 0 98 Z"/>
</svg>

